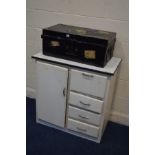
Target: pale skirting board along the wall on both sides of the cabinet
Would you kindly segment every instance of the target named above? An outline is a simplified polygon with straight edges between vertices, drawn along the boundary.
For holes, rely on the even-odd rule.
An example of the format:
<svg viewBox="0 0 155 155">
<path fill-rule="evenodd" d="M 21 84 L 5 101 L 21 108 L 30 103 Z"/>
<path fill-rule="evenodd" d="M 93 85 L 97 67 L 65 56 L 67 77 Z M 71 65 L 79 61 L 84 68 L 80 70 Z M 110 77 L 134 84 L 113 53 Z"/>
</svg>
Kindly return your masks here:
<svg viewBox="0 0 155 155">
<path fill-rule="evenodd" d="M 26 87 L 26 96 L 29 98 L 35 99 L 36 98 L 35 89 L 30 88 L 30 87 Z M 110 121 L 129 126 L 128 115 L 117 112 L 117 111 L 111 112 Z"/>
</svg>

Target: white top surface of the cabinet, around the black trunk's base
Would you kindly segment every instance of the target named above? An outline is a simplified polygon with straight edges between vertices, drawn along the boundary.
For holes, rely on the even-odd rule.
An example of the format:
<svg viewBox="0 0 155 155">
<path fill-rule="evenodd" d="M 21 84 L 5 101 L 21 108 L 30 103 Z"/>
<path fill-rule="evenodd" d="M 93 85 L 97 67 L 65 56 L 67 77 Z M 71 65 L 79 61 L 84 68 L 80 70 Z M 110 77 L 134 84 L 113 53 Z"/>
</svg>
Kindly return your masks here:
<svg viewBox="0 0 155 155">
<path fill-rule="evenodd" d="M 93 71 L 99 71 L 102 73 L 109 73 L 109 74 L 114 74 L 118 65 L 121 62 L 120 58 L 112 57 L 110 59 L 110 61 L 106 64 L 105 67 L 96 67 L 96 66 L 87 65 L 87 64 L 83 64 L 83 63 L 79 63 L 79 62 L 70 61 L 70 60 L 46 56 L 46 55 L 43 55 L 42 52 L 39 52 L 39 53 L 33 55 L 33 58 L 43 59 L 43 60 L 47 60 L 47 61 L 51 61 L 51 62 L 62 63 L 64 65 L 67 64 L 67 65 L 71 65 L 71 66 L 75 66 L 75 67 L 81 67 L 84 69 L 90 69 Z"/>
</svg>

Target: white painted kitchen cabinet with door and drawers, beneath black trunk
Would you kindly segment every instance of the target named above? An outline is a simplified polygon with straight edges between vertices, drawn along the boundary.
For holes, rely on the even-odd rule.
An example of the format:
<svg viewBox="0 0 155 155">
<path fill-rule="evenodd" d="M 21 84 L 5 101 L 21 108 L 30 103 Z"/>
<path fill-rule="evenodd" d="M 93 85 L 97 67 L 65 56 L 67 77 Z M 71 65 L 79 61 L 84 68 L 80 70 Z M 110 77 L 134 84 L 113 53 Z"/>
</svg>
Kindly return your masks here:
<svg viewBox="0 0 155 155">
<path fill-rule="evenodd" d="M 119 58 L 104 68 L 33 56 L 37 63 L 37 123 L 100 142 L 109 120 Z"/>
</svg>

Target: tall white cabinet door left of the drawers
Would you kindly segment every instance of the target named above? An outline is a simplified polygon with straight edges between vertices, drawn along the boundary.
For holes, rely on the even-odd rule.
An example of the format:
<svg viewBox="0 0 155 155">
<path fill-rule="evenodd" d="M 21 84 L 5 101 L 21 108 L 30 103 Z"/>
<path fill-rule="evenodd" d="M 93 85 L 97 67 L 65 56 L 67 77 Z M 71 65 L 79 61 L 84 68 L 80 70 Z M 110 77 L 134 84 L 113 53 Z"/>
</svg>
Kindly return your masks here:
<svg viewBox="0 0 155 155">
<path fill-rule="evenodd" d="M 68 69 L 37 62 L 37 118 L 64 127 Z"/>
</svg>

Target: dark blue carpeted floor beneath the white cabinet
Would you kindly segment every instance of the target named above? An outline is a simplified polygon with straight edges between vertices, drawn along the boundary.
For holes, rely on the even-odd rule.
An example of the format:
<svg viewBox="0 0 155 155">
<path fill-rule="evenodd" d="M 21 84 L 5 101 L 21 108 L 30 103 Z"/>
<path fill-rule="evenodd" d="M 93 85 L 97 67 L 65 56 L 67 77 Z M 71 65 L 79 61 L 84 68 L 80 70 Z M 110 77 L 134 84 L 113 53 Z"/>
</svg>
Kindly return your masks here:
<svg viewBox="0 0 155 155">
<path fill-rule="evenodd" d="M 26 99 L 27 155 L 128 155 L 129 128 L 109 122 L 100 144 L 35 122 L 35 100 Z"/>
</svg>

